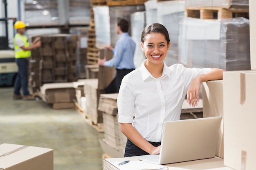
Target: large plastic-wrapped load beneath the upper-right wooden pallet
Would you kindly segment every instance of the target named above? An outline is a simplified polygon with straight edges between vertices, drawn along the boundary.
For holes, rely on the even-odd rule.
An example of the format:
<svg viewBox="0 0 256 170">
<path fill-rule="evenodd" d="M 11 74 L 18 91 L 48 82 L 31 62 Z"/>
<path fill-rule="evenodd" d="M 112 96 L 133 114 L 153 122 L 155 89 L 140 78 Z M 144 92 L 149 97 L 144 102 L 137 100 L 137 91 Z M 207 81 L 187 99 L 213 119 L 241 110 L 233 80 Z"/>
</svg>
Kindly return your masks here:
<svg viewBox="0 0 256 170">
<path fill-rule="evenodd" d="M 246 18 L 180 22 L 179 62 L 186 67 L 250 70 L 249 46 Z"/>
</svg>

